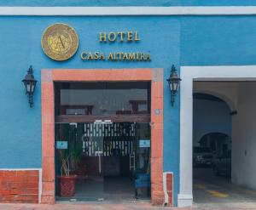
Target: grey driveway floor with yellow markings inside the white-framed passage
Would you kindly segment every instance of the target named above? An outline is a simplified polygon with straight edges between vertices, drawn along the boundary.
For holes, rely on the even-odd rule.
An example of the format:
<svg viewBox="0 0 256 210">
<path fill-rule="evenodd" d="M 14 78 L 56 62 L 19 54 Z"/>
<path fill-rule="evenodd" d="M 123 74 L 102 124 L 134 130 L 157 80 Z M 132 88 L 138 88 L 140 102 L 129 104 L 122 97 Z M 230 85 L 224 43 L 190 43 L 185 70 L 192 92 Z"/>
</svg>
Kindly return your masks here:
<svg viewBox="0 0 256 210">
<path fill-rule="evenodd" d="M 212 168 L 195 168 L 193 207 L 198 209 L 256 209 L 256 190 L 232 184 L 230 178 L 215 176 Z"/>
</svg>

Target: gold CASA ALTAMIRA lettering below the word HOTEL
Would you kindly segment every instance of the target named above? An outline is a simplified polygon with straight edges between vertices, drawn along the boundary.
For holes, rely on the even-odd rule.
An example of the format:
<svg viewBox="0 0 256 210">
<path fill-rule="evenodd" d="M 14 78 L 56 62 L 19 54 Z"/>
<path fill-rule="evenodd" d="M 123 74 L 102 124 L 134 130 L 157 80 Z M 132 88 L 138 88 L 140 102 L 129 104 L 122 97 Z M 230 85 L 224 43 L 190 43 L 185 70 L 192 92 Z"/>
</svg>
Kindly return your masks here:
<svg viewBox="0 0 256 210">
<path fill-rule="evenodd" d="M 102 52 L 82 52 L 81 59 L 86 60 L 110 60 L 110 61 L 151 61 L 148 53 L 142 52 L 110 52 L 104 54 Z"/>
</svg>

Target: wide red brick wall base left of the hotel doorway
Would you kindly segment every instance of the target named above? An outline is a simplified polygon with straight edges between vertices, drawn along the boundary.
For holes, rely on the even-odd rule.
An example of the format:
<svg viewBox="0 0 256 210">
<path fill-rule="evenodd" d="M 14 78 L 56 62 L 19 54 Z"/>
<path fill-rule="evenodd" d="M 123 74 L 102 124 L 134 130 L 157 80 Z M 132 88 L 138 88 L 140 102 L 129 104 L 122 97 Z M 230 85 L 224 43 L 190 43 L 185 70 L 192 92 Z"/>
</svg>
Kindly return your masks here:
<svg viewBox="0 0 256 210">
<path fill-rule="evenodd" d="M 0 202 L 38 203 L 38 170 L 0 170 Z"/>
</svg>

